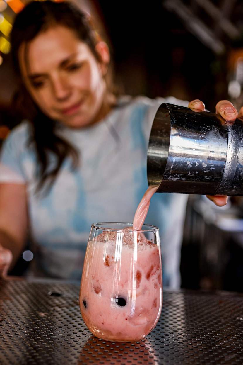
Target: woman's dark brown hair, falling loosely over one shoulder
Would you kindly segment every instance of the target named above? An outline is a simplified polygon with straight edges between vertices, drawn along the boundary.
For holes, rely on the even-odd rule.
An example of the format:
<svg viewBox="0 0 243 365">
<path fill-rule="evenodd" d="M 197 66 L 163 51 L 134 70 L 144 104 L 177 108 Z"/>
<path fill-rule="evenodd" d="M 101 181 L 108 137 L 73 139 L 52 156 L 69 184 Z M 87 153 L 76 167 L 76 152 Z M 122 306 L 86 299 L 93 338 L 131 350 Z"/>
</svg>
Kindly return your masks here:
<svg viewBox="0 0 243 365">
<path fill-rule="evenodd" d="M 56 121 L 43 114 L 32 100 L 24 86 L 19 65 L 21 45 L 27 46 L 28 42 L 41 32 L 56 25 L 62 25 L 74 31 L 78 38 L 89 46 L 97 61 L 100 61 L 100 56 L 95 50 L 99 40 L 97 31 L 95 31 L 89 16 L 70 1 L 31 1 L 16 15 L 10 39 L 13 68 L 18 81 L 17 92 L 13 97 L 13 106 L 21 118 L 28 119 L 32 125 L 30 143 L 35 145 L 39 162 L 36 168 L 39 179 L 37 190 L 40 190 L 46 183 L 48 183 L 48 187 L 51 186 L 67 155 L 71 156 L 74 167 L 77 166 L 78 162 L 78 153 L 75 148 L 55 133 Z M 116 93 L 110 65 L 105 77 L 107 91 Z M 50 153 L 56 156 L 56 165 L 52 169 L 48 165 Z"/>
</svg>

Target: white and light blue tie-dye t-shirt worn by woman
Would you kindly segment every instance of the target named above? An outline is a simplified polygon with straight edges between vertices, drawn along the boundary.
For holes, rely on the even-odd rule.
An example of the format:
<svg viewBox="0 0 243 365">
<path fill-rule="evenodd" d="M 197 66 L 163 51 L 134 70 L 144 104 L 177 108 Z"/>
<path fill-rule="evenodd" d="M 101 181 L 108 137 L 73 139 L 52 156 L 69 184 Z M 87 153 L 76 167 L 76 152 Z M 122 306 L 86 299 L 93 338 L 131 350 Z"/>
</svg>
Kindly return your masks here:
<svg viewBox="0 0 243 365">
<path fill-rule="evenodd" d="M 148 188 L 146 154 L 154 115 L 162 102 L 123 97 L 101 122 L 89 128 L 67 127 L 58 133 L 79 151 L 79 165 L 66 158 L 46 195 L 36 193 L 35 150 L 28 145 L 30 127 L 22 122 L 4 142 L 0 183 L 26 184 L 34 260 L 31 273 L 80 280 L 94 222 L 132 222 Z M 180 285 L 180 245 L 187 196 L 156 193 L 145 223 L 160 228 L 163 281 Z"/>
</svg>

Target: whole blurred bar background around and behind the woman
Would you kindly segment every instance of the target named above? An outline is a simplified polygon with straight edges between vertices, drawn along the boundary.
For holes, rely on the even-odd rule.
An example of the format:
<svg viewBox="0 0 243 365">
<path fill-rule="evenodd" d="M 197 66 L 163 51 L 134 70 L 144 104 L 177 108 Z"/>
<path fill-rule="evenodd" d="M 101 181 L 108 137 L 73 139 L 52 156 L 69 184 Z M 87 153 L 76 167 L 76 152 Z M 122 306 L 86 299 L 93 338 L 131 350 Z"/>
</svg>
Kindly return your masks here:
<svg viewBox="0 0 243 365">
<path fill-rule="evenodd" d="M 94 18 L 109 44 L 124 93 L 175 96 L 243 105 L 242 0 L 75 0 Z M 0 0 L 0 148 L 20 122 L 11 108 L 15 93 L 9 33 L 26 0 Z M 243 199 L 224 208 L 190 196 L 182 245 L 182 287 L 243 292 Z M 31 259 L 28 247 L 12 274 Z M 26 261 L 27 260 L 27 261 Z"/>
</svg>

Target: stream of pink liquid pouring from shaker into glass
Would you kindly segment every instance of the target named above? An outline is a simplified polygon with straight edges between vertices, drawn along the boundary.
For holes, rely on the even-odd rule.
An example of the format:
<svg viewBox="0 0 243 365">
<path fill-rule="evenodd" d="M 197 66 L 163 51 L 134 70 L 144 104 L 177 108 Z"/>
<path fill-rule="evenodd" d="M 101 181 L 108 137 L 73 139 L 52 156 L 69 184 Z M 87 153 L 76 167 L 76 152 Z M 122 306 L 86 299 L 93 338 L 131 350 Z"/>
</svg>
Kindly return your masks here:
<svg viewBox="0 0 243 365">
<path fill-rule="evenodd" d="M 157 189 L 158 189 L 158 185 L 149 186 L 148 189 L 146 190 L 144 196 L 142 197 L 142 200 L 138 204 L 138 207 L 137 207 L 136 213 L 134 215 L 134 219 L 133 219 L 133 229 L 134 230 L 138 230 L 138 231 L 141 230 L 142 224 L 144 223 L 144 220 L 145 220 L 146 215 L 149 210 L 150 199 L 152 198 L 154 193 L 157 191 Z"/>
</svg>

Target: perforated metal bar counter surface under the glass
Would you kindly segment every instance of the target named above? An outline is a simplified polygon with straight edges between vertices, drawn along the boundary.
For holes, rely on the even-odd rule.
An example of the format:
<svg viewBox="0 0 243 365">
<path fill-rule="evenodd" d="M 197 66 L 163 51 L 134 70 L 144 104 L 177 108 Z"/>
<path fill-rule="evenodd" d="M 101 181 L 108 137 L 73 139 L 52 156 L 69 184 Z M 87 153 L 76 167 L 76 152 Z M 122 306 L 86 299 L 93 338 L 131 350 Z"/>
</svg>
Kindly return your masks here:
<svg viewBox="0 0 243 365">
<path fill-rule="evenodd" d="M 0 364 L 243 364 L 243 295 L 164 291 L 154 330 L 107 342 L 85 326 L 79 286 L 0 281 Z"/>
</svg>

